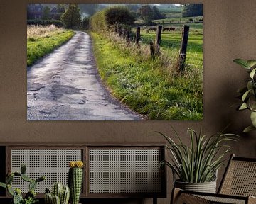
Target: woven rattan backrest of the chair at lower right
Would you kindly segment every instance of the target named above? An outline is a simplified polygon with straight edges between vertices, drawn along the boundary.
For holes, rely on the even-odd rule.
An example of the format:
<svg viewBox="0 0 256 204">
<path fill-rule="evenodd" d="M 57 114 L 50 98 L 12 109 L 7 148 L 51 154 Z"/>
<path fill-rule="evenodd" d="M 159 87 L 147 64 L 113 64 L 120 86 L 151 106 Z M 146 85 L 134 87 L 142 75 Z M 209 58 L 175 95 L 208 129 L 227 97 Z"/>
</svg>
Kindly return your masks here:
<svg viewBox="0 0 256 204">
<path fill-rule="evenodd" d="M 234 196 L 256 196 L 256 159 L 232 154 L 218 193 Z"/>
</svg>

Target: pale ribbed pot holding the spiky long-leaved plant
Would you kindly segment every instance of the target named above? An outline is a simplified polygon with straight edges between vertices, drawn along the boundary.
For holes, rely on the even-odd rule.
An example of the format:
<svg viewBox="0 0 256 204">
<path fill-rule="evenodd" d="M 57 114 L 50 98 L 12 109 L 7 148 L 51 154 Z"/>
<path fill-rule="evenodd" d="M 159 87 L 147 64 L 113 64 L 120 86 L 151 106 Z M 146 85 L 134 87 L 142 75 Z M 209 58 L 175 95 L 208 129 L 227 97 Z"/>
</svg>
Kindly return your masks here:
<svg viewBox="0 0 256 204">
<path fill-rule="evenodd" d="M 206 183 L 187 183 L 181 181 L 175 181 L 174 186 L 186 191 L 196 191 L 203 193 L 216 193 L 216 181 L 210 181 Z"/>
</svg>

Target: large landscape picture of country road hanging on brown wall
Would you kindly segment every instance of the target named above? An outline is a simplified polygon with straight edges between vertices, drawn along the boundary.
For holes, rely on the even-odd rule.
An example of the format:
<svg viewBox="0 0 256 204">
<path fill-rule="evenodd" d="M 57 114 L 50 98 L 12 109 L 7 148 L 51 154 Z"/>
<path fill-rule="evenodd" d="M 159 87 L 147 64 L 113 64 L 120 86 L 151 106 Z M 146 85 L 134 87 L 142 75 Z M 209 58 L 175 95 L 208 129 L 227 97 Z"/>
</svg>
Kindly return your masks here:
<svg viewBox="0 0 256 204">
<path fill-rule="evenodd" d="M 203 4 L 28 4 L 27 120 L 202 120 Z"/>
</svg>

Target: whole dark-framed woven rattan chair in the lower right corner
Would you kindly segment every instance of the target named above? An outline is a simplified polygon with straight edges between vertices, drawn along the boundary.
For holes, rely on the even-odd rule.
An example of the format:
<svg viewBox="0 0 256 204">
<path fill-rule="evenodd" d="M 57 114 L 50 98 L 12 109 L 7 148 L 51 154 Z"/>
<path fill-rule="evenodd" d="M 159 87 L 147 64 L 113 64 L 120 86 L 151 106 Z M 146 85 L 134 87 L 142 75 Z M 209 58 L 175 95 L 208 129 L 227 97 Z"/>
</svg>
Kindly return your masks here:
<svg viewBox="0 0 256 204">
<path fill-rule="evenodd" d="M 171 204 L 256 203 L 256 159 L 232 154 L 218 193 L 198 193 L 174 188 Z"/>
</svg>

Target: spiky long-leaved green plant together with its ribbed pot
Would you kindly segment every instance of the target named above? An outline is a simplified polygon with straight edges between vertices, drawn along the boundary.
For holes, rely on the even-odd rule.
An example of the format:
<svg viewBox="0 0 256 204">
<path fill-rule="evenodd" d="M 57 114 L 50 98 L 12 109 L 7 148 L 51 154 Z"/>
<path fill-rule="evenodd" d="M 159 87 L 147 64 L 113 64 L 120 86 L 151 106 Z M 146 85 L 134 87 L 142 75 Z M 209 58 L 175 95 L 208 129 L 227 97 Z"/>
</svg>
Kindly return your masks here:
<svg viewBox="0 0 256 204">
<path fill-rule="evenodd" d="M 200 131 L 196 133 L 188 128 L 190 144 L 185 145 L 181 137 L 174 130 L 178 143 L 171 137 L 158 132 L 167 140 L 166 148 L 171 153 L 170 161 L 162 164 L 170 167 L 174 176 L 174 187 L 188 191 L 215 193 L 216 174 L 220 166 L 223 166 L 223 157 L 230 152 L 228 141 L 235 141 L 238 135 L 217 133 L 206 137 Z M 178 179 L 176 179 L 178 177 Z"/>
</svg>

